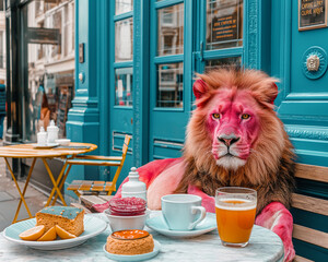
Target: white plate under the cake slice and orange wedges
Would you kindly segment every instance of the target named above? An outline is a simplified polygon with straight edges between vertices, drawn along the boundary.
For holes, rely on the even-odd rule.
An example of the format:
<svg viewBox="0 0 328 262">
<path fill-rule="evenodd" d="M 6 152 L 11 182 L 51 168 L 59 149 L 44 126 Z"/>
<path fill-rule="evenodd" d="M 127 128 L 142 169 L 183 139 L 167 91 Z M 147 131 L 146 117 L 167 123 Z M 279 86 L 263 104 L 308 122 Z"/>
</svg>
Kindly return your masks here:
<svg viewBox="0 0 328 262">
<path fill-rule="evenodd" d="M 31 218 L 27 221 L 19 222 L 7 227 L 3 231 L 3 237 L 9 241 L 24 245 L 33 249 L 40 250 L 58 250 L 67 249 L 79 246 L 85 242 L 89 238 L 95 237 L 103 233 L 107 228 L 107 223 L 101 218 L 94 216 L 84 216 L 84 231 L 77 238 L 71 239 L 58 239 L 55 241 L 26 241 L 22 240 L 19 235 L 28 228 L 35 227 L 36 219 Z"/>
</svg>

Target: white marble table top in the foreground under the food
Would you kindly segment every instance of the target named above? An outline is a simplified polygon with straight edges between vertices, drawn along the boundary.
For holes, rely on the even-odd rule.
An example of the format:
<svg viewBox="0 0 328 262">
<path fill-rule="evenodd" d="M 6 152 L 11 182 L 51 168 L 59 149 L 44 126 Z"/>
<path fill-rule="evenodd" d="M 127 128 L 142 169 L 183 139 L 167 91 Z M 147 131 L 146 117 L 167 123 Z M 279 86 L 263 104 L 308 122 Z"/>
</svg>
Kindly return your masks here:
<svg viewBox="0 0 328 262">
<path fill-rule="evenodd" d="M 106 219 L 103 214 L 98 216 Z M 218 230 L 189 239 L 168 238 L 147 227 L 145 230 L 161 243 L 160 253 L 151 261 L 283 261 L 283 245 L 279 236 L 259 226 L 254 226 L 249 245 L 245 248 L 223 247 Z M 81 246 L 56 251 L 34 250 L 16 245 L 0 234 L 0 261 L 112 261 L 103 251 L 109 234 L 110 227 Z"/>
</svg>

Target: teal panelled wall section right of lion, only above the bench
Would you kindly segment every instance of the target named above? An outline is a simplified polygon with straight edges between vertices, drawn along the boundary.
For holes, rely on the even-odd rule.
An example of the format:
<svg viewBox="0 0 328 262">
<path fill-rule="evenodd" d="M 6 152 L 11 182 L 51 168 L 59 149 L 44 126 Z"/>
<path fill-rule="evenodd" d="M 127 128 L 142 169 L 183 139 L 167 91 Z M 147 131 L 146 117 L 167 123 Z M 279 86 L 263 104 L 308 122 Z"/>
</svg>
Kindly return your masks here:
<svg viewBox="0 0 328 262">
<path fill-rule="evenodd" d="M 278 97 L 278 114 L 292 142 L 297 145 L 297 160 L 327 165 L 328 147 L 319 145 L 328 141 L 328 74 L 325 70 L 328 28 L 298 31 L 298 1 L 281 2 L 280 7 L 278 2 L 274 4 L 272 10 L 280 8 L 284 13 L 282 23 L 272 21 L 273 31 L 280 28 L 280 35 L 284 37 L 282 49 L 272 52 L 272 64 L 280 66 L 279 69 L 274 66 L 273 72 L 280 71 L 283 86 Z M 280 27 L 276 28 L 274 23 Z M 319 58 L 317 71 L 307 69 L 312 56 Z"/>
</svg>

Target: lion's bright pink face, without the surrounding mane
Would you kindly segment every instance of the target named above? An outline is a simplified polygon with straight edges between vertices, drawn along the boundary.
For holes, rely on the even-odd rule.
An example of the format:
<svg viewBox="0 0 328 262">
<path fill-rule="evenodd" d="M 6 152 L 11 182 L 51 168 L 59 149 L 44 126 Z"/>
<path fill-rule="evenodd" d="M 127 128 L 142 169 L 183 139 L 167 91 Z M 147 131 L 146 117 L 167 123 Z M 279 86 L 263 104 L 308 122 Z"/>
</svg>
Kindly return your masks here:
<svg viewBox="0 0 328 262">
<path fill-rule="evenodd" d="M 245 165 L 260 130 L 256 100 L 246 91 L 221 88 L 207 107 L 206 126 L 216 164 L 226 169 Z"/>
</svg>

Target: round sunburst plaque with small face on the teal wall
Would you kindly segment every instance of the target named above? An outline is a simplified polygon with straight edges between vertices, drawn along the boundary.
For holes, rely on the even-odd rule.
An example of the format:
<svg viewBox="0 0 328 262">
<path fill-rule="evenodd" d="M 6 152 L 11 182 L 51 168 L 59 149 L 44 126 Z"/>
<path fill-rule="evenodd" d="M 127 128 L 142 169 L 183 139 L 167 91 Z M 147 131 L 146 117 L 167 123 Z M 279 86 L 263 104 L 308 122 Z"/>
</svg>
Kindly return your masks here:
<svg viewBox="0 0 328 262">
<path fill-rule="evenodd" d="M 308 79 L 321 78 L 327 70 L 327 53 L 325 49 L 317 46 L 308 48 L 302 57 L 302 70 Z"/>
</svg>

